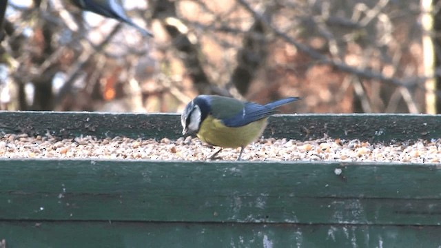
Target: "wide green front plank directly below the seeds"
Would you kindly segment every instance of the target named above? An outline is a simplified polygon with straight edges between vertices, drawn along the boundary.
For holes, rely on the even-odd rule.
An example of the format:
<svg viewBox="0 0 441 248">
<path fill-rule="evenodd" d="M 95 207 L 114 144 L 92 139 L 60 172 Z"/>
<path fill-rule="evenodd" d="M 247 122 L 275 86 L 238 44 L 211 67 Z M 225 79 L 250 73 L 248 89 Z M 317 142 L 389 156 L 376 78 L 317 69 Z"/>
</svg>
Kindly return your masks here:
<svg viewBox="0 0 441 248">
<path fill-rule="evenodd" d="M 4 160 L 0 220 L 441 225 L 440 181 L 425 164 Z"/>
</svg>

